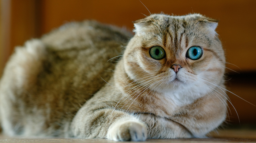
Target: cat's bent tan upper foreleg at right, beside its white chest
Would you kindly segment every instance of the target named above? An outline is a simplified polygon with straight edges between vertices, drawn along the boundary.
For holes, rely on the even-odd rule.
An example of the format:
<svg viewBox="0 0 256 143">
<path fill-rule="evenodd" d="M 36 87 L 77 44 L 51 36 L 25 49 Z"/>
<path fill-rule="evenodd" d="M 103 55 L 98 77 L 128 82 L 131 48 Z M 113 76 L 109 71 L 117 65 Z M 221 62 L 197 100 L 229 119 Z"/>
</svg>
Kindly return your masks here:
<svg viewBox="0 0 256 143">
<path fill-rule="evenodd" d="M 225 121 L 226 100 L 227 95 L 221 88 L 218 88 L 216 92 L 209 93 L 208 96 L 197 99 L 193 104 L 184 107 L 183 112 L 176 114 L 171 120 L 182 124 L 196 138 L 204 138 L 208 132 Z"/>
</svg>

